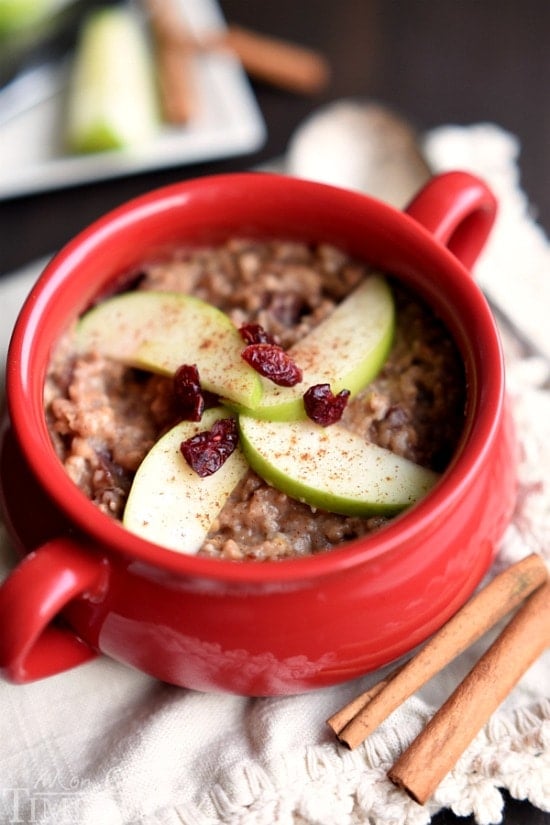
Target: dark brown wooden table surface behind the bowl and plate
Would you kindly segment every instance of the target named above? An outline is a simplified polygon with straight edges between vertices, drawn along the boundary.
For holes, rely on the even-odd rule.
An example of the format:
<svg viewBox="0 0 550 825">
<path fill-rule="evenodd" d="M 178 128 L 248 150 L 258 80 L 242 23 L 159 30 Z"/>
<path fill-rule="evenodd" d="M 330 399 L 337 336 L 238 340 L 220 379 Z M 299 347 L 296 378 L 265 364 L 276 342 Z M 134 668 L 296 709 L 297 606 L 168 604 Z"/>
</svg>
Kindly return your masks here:
<svg viewBox="0 0 550 825">
<path fill-rule="evenodd" d="M 108 209 L 153 187 L 246 169 L 284 153 L 296 126 L 342 97 L 375 99 L 419 130 L 490 121 L 521 142 L 522 183 L 550 231 L 550 3 L 547 0 L 221 0 L 226 18 L 321 50 L 332 79 L 319 97 L 254 86 L 268 137 L 254 155 L 78 186 L 0 203 L 0 274 L 63 245 Z M 0 157 L 1 162 L 1 157 Z M 447 811 L 435 825 L 473 825 Z M 550 825 L 506 797 L 505 825 Z"/>
</svg>

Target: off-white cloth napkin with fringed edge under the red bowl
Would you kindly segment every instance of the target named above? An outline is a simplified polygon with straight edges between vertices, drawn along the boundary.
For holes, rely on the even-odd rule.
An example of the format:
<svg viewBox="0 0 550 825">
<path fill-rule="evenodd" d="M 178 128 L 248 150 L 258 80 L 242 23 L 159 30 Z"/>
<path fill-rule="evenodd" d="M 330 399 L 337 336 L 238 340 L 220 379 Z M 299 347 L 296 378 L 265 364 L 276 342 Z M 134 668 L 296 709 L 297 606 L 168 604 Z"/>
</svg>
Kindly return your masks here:
<svg viewBox="0 0 550 825">
<path fill-rule="evenodd" d="M 437 170 L 483 176 L 501 209 L 477 275 L 548 345 L 550 245 L 519 188 L 517 141 L 492 125 L 427 136 Z M 0 356 L 39 266 L 0 282 Z M 550 553 L 548 365 L 506 338 L 523 446 L 521 495 L 490 575 Z M 548 350 L 547 350 L 548 351 Z M 1 529 L 1 527 L 0 527 Z M 0 535 L 0 573 L 14 563 Z M 0 631 L 1 632 L 1 631 Z M 0 821 L 45 825 L 425 825 L 441 808 L 501 821 L 502 788 L 550 811 L 550 653 L 529 670 L 424 807 L 386 770 L 465 675 L 489 637 L 405 702 L 367 742 L 343 750 L 325 726 L 371 674 L 302 696 L 247 699 L 184 690 L 98 658 L 25 686 L 0 684 Z"/>
</svg>

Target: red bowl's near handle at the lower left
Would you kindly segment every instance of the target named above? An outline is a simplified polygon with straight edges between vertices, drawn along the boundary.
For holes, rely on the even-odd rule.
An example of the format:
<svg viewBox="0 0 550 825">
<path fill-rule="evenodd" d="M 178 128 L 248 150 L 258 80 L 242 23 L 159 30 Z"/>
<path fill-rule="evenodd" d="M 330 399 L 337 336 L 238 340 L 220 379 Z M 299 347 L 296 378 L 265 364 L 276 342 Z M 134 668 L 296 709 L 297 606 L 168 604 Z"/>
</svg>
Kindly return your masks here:
<svg viewBox="0 0 550 825">
<path fill-rule="evenodd" d="M 53 676 L 97 655 L 54 617 L 77 596 L 99 599 L 107 565 L 69 538 L 29 553 L 0 588 L 0 674 L 25 683 Z"/>
</svg>

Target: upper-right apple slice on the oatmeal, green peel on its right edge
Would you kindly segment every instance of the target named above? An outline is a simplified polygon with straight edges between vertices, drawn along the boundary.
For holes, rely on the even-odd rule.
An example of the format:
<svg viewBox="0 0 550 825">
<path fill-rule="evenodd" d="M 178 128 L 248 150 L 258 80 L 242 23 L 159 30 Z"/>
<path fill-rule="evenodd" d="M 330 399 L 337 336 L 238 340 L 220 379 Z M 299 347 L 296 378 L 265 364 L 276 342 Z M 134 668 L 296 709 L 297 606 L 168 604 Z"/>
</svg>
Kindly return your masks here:
<svg viewBox="0 0 550 825">
<path fill-rule="evenodd" d="M 259 403 L 242 412 L 270 421 L 304 418 L 303 395 L 315 384 L 330 384 L 335 394 L 347 389 L 353 397 L 382 367 L 394 327 L 391 289 L 384 278 L 372 275 L 289 350 L 303 380 L 294 387 L 279 387 L 262 379 Z"/>
</svg>

